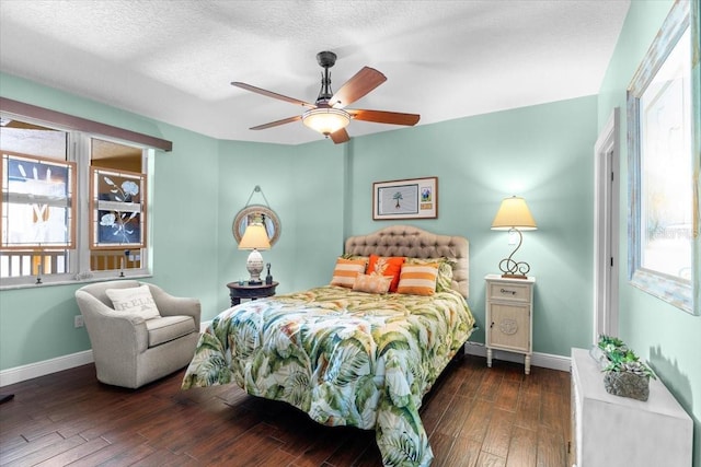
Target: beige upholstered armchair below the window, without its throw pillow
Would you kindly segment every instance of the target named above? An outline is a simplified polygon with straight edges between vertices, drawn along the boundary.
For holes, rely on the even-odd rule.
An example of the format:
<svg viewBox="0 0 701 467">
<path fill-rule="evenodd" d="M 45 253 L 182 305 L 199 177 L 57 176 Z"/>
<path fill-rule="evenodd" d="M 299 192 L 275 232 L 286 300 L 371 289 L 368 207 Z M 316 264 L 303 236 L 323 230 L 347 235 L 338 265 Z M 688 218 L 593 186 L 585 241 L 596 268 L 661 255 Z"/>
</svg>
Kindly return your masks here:
<svg viewBox="0 0 701 467">
<path fill-rule="evenodd" d="M 147 284 L 160 316 L 115 311 L 108 289 L 138 288 L 136 280 L 92 283 L 76 291 L 92 345 L 97 380 L 137 388 L 186 366 L 199 338 L 200 304 Z"/>
</svg>

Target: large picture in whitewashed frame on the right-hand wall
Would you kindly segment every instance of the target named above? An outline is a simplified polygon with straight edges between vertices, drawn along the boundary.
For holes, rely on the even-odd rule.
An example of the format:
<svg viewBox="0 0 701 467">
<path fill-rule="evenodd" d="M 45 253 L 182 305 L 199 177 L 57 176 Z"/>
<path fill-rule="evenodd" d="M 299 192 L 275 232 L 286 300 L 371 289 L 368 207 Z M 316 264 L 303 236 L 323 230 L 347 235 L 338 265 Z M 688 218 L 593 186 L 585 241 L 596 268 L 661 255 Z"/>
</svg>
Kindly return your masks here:
<svg viewBox="0 0 701 467">
<path fill-rule="evenodd" d="M 691 5 L 691 7 L 690 7 Z M 628 89 L 630 283 L 700 314 L 699 3 L 677 1 Z"/>
</svg>

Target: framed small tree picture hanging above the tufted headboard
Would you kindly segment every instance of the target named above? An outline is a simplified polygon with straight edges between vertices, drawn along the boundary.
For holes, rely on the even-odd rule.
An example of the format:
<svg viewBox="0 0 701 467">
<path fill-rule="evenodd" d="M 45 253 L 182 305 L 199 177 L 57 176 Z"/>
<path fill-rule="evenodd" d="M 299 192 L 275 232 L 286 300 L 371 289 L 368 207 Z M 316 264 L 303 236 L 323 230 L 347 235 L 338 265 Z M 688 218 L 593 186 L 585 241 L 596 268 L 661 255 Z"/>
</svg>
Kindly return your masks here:
<svg viewBox="0 0 701 467">
<path fill-rule="evenodd" d="M 438 178 L 410 178 L 372 184 L 372 219 L 435 219 Z"/>
</svg>

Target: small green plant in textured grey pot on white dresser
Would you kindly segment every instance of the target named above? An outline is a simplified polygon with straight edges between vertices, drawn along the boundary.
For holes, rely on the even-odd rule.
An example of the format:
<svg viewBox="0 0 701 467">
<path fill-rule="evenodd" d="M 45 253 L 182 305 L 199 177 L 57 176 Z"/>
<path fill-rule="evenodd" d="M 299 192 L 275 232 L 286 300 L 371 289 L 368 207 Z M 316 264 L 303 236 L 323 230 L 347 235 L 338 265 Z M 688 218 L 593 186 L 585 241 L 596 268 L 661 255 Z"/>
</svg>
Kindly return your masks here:
<svg viewBox="0 0 701 467">
<path fill-rule="evenodd" d="M 653 371 L 617 337 L 599 336 L 597 346 L 604 357 L 604 387 L 609 394 L 647 400 Z"/>
</svg>

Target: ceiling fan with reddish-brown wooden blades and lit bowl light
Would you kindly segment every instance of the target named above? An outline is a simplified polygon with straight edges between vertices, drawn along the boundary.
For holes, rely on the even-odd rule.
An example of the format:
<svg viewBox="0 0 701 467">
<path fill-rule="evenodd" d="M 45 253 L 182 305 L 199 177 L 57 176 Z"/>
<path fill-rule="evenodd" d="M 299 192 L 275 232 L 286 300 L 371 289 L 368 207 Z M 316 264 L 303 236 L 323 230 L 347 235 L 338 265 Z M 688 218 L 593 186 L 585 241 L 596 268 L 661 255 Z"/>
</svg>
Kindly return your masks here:
<svg viewBox="0 0 701 467">
<path fill-rule="evenodd" d="M 347 105 L 353 104 L 354 102 L 382 84 L 384 81 L 387 81 L 387 77 L 384 77 L 384 74 L 380 73 L 374 68 L 363 67 L 363 69 L 348 81 L 346 81 L 341 86 L 341 89 L 338 89 L 338 91 L 333 93 L 331 90 L 331 77 L 329 73 L 329 69 L 336 62 L 336 54 L 332 51 L 320 51 L 319 54 L 317 54 L 317 61 L 324 69 L 324 71 L 321 75 L 321 91 L 319 92 L 319 96 L 313 104 L 300 101 L 298 98 L 288 97 L 283 94 L 274 93 L 261 87 L 252 86 L 251 84 L 241 83 L 239 81 L 234 81 L 231 83 L 232 85 L 244 89 L 246 91 L 307 107 L 307 110 L 304 110 L 301 115 L 283 118 L 281 120 L 271 121 L 269 124 L 258 125 L 256 127 L 252 127 L 252 130 L 264 130 L 266 128 L 277 127 L 279 125 L 302 120 L 302 124 L 304 124 L 307 127 L 319 131 L 327 138 L 331 138 L 333 142 L 337 144 L 346 142 L 350 139 L 348 137 L 348 132 L 346 131 L 346 127 L 350 122 L 352 118 L 356 120 L 374 121 L 377 124 L 406 126 L 416 125 L 416 122 L 421 118 L 421 116 L 417 114 L 346 108 Z"/>
</svg>

